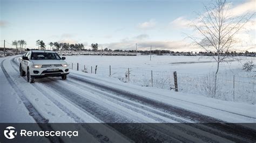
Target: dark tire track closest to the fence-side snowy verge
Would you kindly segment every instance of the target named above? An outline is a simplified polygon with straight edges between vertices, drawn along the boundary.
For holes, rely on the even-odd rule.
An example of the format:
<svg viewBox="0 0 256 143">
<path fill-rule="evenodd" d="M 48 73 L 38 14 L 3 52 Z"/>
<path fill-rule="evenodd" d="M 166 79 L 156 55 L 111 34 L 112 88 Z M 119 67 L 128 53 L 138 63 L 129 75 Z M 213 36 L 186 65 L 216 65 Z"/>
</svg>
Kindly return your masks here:
<svg viewBox="0 0 256 143">
<path fill-rule="evenodd" d="M 253 133 L 255 131 L 251 130 L 250 128 L 246 128 L 246 127 L 242 127 L 242 126 L 234 125 L 234 124 L 226 124 L 225 121 L 222 121 L 222 120 L 219 120 L 219 119 L 215 119 L 215 118 L 212 118 L 212 117 L 201 115 L 201 114 L 196 113 L 196 112 L 181 109 L 181 108 L 178 108 L 176 106 L 160 103 L 158 101 L 154 101 L 152 99 L 141 97 L 139 95 L 134 95 L 134 94 L 131 94 L 131 93 L 126 92 L 126 91 L 122 91 L 122 90 L 115 89 L 115 88 L 112 88 L 112 87 L 107 87 L 106 85 L 95 83 L 95 82 L 92 82 L 90 80 L 84 80 L 84 79 L 79 78 L 77 76 L 69 75 L 69 77 L 74 79 L 74 80 L 90 84 L 93 87 L 98 88 L 98 89 L 103 90 L 103 91 L 108 91 L 108 92 L 111 92 L 111 93 L 114 92 L 115 94 L 118 94 L 120 96 L 124 96 L 126 98 L 129 98 L 130 100 L 137 101 L 137 102 L 140 102 L 140 103 L 150 104 L 151 106 L 154 106 L 155 108 L 157 108 L 159 110 L 168 112 L 170 114 L 174 114 L 178 117 L 183 117 L 185 119 L 192 119 L 192 120 L 195 120 L 195 121 L 199 121 L 199 123 L 206 123 L 204 125 L 210 126 L 211 128 L 214 129 L 214 130 L 211 130 L 211 133 L 215 134 L 215 135 L 218 135 L 219 137 L 223 137 L 223 138 L 226 138 L 226 139 L 229 139 L 229 140 L 232 140 L 232 141 L 238 141 L 238 140 L 239 141 L 245 141 L 247 139 L 255 140 L 255 137 L 253 135 Z M 207 123 L 215 123 L 215 124 L 207 124 Z M 205 128 L 205 127 L 202 127 L 202 126 L 196 126 L 196 124 L 194 125 L 194 127 L 200 128 L 200 130 L 206 131 L 206 132 L 209 130 L 208 127 Z M 223 131 L 225 131 L 226 133 L 223 133 Z"/>
</svg>

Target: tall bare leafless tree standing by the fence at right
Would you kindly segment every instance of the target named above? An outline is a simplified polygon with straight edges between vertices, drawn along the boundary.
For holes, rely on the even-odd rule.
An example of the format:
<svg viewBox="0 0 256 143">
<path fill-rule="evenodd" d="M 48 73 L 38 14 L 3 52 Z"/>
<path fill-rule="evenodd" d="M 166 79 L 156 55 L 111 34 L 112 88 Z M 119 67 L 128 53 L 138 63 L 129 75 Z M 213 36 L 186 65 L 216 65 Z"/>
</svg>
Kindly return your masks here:
<svg viewBox="0 0 256 143">
<path fill-rule="evenodd" d="M 206 52 L 214 53 L 212 58 L 217 62 L 214 94 L 220 62 L 231 58 L 227 53 L 239 42 L 238 39 L 235 39 L 235 35 L 254 16 L 254 13 L 233 16 L 230 7 L 226 0 L 215 0 L 214 3 L 204 5 L 206 12 L 202 15 L 199 14 L 198 20 L 191 24 L 197 32 L 197 36 L 188 35 L 188 38 Z"/>
</svg>

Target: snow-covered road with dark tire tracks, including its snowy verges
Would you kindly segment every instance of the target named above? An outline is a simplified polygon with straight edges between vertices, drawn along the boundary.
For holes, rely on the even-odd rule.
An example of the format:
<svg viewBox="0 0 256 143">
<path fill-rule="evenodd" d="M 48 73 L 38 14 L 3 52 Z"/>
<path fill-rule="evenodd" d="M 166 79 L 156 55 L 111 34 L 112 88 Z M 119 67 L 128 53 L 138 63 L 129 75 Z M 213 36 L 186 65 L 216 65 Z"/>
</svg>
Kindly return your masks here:
<svg viewBox="0 0 256 143">
<path fill-rule="evenodd" d="M 3 79 L 1 123 L 221 123 L 205 126 L 172 124 L 167 127 L 161 126 L 163 124 L 145 124 L 142 128 L 153 128 L 163 141 L 177 139 L 175 132 L 186 134 L 185 141 L 253 139 L 248 133 L 252 130 L 241 126 L 228 126 L 225 123 L 255 123 L 255 105 L 197 95 L 192 98 L 178 92 L 139 87 L 113 78 L 72 70 L 66 81 L 49 77 L 36 79 L 36 83 L 31 84 L 19 76 L 17 56 L 1 58 L 0 62 L 0 76 Z M 121 133 L 124 128 L 134 130 L 130 124 L 124 124 L 123 129 L 115 128 L 114 125 L 111 127 Z M 214 129 L 216 127 L 218 130 Z M 224 132 L 226 127 L 230 128 L 231 134 Z M 150 135 L 142 128 L 136 128 L 133 134 L 140 133 L 145 137 Z M 195 128 L 198 130 L 196 133 Z M 132 134 L 129 135 L 132 137 Z M 119 136 L 122 138 L 122 135 Z"/>
</svg>

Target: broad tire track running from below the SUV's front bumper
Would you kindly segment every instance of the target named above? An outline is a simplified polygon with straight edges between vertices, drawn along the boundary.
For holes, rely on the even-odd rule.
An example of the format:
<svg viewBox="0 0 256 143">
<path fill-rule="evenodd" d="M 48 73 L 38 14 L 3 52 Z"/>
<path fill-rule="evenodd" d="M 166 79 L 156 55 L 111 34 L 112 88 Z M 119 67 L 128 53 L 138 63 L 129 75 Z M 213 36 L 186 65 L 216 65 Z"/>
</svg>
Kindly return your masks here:
<svg viewBox="0 0 256 143">
<path fill-rule="evenodd" d="M 72 101 L 74 104 L 78 105 L 80 108 L 83 108 L 87 112 L 91 113 L 93 116 L 104 121 L 104 123 L 110 123 L 110 126 L 112 128 L 114 128 L 115 130 L 117 130 L 117 131 L 129 130 L 130 132 L 128 134 L 125 134 L 124 132 L 121 132 L 121 133 L 124 133 L 124 135 L 128 135 L 126 137 L 132 138 L 133 141 L 150 142 L 152 140 L 156 140 L 156 139 L 154 139 L 154 137 L 152 137 L 152 132 L 153 132 L 153 134 L 158 135 L 158 137 L 159 137 L 158 141 L 166 141 L 166 140 L 173 140 L 173 141 L 176 140 L 178 142 L 180 141 L 180 139 L 176 139 L 176 138 L 172 137 L 172 135 L 163 134 L 156 130 L 152 131 L 152 128 L 147 126 L 146 124 L 143 126 L 143 128 L 140 128 L 138 126 L 136 126 L 134 128 L 134 126 L 132 126 L 132 124 L 122 124 L 122 126 L 120 126 L 120 125 L 118 125 L 118 123 L 134 123 L 134 120 L 130 120 L 130 119 L 125 118 L 122 115 L 119 115 L 114 112 L 110 112 L 107 109 L 105 109 L 104 106 L 100 106 L 97 103 L 93 103 L 89 99 L 86 99 L 86 98 L 80 96 L 79 94 L 76 94 L 75 92 L 71 92 L 70 90 L 63 88 L 62 85 L 59 85 L 58 83 L 53 83 L 53 82 L 54 81 L 52 81 L 47 86 L 50 88 L 53 88 L 55 90 L 57 89 L 56 92 L 59 92 L 59 94 L 61 94 L 65 98 L 68 98 L 70 101 Z M 117 123 L 117 124 L 112 124 L 112 123 Z M 147 130 L 149 130 L 150 132 Z M 133 137 L 138 137 L 138 134 L 142 138 L 133 138 Z"/>
</svg>

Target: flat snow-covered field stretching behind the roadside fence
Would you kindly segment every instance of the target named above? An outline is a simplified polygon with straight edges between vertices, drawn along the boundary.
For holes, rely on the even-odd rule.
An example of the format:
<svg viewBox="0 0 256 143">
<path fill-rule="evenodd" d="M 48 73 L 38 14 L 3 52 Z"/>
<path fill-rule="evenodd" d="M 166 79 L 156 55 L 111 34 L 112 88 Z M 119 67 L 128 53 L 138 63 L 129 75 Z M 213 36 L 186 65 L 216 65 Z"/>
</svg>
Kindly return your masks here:
<svg viewBox="0 0 256 143">
<path fill-rule="evenodd" d="M 213 95 L 214 72 L 217 64 L 208 56 L 66 56 L 70 68 L 79 70 L 84 68 L 87 73 L 111 76 L 123 82 L 157 87 L 162 89 L 174 88 L 173 71 L 177 71 L 178 90 L 189 94 L 203 95 L 223 99 L 225 101 L 256 103 L 256 70 L 245 72 L 242 70 L 244 62 L 255 57 L 236 57 L 220 65 L 217 76 L 217 94 Z M 110 71 L 111 66 L 111 71 Z M 129 74 L 128 74 L 129 68 Z M 152 82 L 151 82 L 152 70 Z M 129 76 L 129 79 L 128 79 Z M 191 95 L 193 96 L 193 95 Z M 233 97 L 234 96 L 234 97 Z"/>
</svg>

